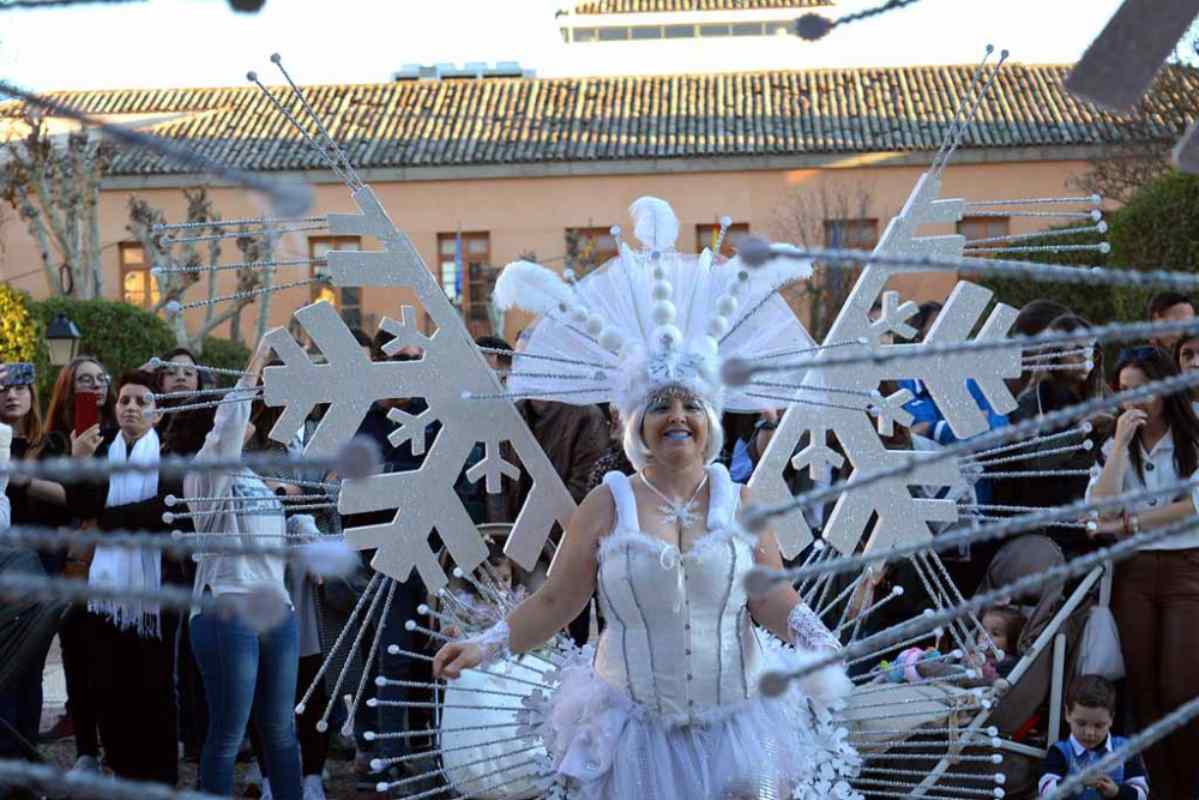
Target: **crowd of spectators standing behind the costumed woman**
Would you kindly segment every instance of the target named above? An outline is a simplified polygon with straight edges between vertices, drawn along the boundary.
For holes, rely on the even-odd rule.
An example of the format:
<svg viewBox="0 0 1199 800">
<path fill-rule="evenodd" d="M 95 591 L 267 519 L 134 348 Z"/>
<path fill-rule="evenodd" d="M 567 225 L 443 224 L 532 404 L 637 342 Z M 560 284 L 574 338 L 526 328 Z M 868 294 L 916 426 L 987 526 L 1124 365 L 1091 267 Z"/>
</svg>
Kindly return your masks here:
<svg viewBox="0 0 1199 800">
<path fill-rule="evenodd" d="M 940 313 L 936 303 L 921 307 L 917 338 L 935 330 Z M 1194 318 L 1189 299 L 1177 294 L 1153 297 L 1147 309 L 1153 320 Z M 1104 320 L 1093 320 L 1099 324 Z M 1020 309 L 1014 333 L 1034 336 L 1046 331 L 1076 333 L 1092 327 L 1092 321 L 1050 301 L 1036 301 Z M 412 360 L 422 356 L 415 348 L 388 347 L 390 335 L 372 338 L 361 331 L 355 336 L 373 360 Z M 487 337 L 484 348 L 489 366 L 501 383 L 512 367 L 520 341 L 511 348 L 504 339 Z M 1030 348 L 1024 354 L 1025 371 L 1008 380 L 1017 399 L 1014 410 L 998 413 L 978 386 L 968 385 L 990 429 L 1034 420 L 1040 416 L 1102 398 L 1111 391 L 1128 390 L 1181 372 L 1199 369 L 1199 337 L 1156 337 L 1151 342 L 1120 353 L 1111 369 L 1105 369 L 1103 348 L 1083 345 Z M 0 371 L 0 422 L 12 431 L 11 458 L 43 459 L 60 456 L 103 458 L 109 463 L 134 462 L 152 467 L 163 456 L 207 459 L 236 458 L 245 450 L 302 450 L 318 419 L 309 420 L 296 440 L 288 445 L 273 443 L 269 433 L 278 409 L 263 405 L 254 386 L 267 365 L 267 351 L 254 355 L 245 375 L 219 404 L 175 411 L 174 405 L 201 404 L 194 395 L 212 387 L 210 373 L 187 350 L 163 354 L 159 367 L 141 368 L 110 377 L 97 359 L 79 356 L 64 367 L 56 380 L 43 419 L 36 381 Z M 904 381 L 893 390 L 911 395 L 906 410 L 912 415 L 910 431 L 898 431 L 885 438 L 891 449 L 936 450 L 956 441 L 951 426 L 936 399 L 921 381 Z M 95 422 L 77 423 L 80 395 L 94 397 Z M 620 445 L 620 420 L 602 407 L 577 407 L 540 399 L 517 403 L 532 435 L 544 450 L 566 488 L 580 501 L 605 473 L 633 473 Z M 916 487 L 923 497 L 952 499 L 960 504 L 962 525 L 978 519 L 995 519 L 1036 509 L 1064 506 L 1085 498 L 1101 499 L 1137 489 L 1175 486 L 1194 474 L 1199 462 L 1199 419 L 1189 396 L 1183 393 L 1152 397 L 1109 413 L 1095 414 L 1055 429 L 1042 431 L 1028 444 L 1017 464 L 999 469 L 983 465 L 970 474 L 969 485 L 958 488 Z M 360 434 L 372 439 L 382 455 L 386 471 L 420 469 L 426 453 L 441 431 L 428 426 L 424 446 L 411 440 L 392 444 L 394 429 L 391 411 L 399 409 L 417 415 L 426 409 L 418 398 L 392 398 L 375 403 L 364 415 Z M 779 425 L 782 409 L 757 416 L 728 415 L 725 452 L 721 458 L 730 467 L 735 480 L 752 474 L 763 452 L 770 446 Z M 807 434 L 805 434 L 807 437 Z M 2 444 L 2 441 L 0 441 Z M 801 440 L 800 446 L 809 444 Z M 839 449 L 832 434 L 825 443 Z M 1072 446 L 1077 445 L 1077 446 Z M 507 455 L 514 458 L 513 453 Z M 530 491 L 529 479 L 507 481 L 505 492 L 490 495 L 482 482 L 465 477 L 471 462 L 483 457 L 471 455 L 464 464 L 456 491 L 481 529 L 502 530 L 514 522 Z M 848 475 L 813 475 L 809 470 L 788 469 L 788 486 L 794 493 L 829 485 Z M 1023 473 L 1023 474 L 1022 474 Z M 1060 477 L 1037 477 L 1061 473 Z M 240 474 L 197 471 L 186 480 L 158 480 L 152 469 L 114 474 L 102 483 L 56 483 L 13 475 L 6 487 L 10 524 L 59 530 L 137 530 L 149 536 L 168 536 L 173 530 L 236 535 L 243 539 L 338 534 L 343 528 L 388 522 L 403 510 L 341 517 L 330 493 L 336 475 L 305 474 L 300 470 L 278 474 Z M 180 515 L 187 501 L 191 515 Z M 963 547 L 944 553 L 946 567 L 957 589 L 964 595 L 986 583 L 1000 548 L 1020 548 L 1028 553 L 1054 552 L 1060 558 L 1092 552 L 1099 545 L 1170 524 L 1195 515 L 1195 494 L 1189 487 L 1175 488 L 1161 497 L 1129 504 L 1102 515 L 1091 524 L 1044 525 L 1025 531 L 1014 541 L 999 541 Z M 297 509 L 297 506 L 305 509 Z M 311 509 L 317 510 L 309 513 Z M 836 503 L 824 509 L 809 509 L 806 518 L 819 536 L 830 521 Z M 171 517 L 168 512 L 175 512 Z M 167 515 L 164 517 L 164 515 Z M 164 521 L 171 519 L 168 524 Z M 933 533 L 940 535 L 940 527 Z M 501 536 L 502 534 L 495 534 Z M 555 530 L 553 539 L 561 535 Z M 867 537 L 869 539 L 869 531 Z M 1048 542 L 1048 545 L 1047 545 Z M 499 539 L 490 547 L 493 570 L 519 572 L 499 555 Z M 1050 548 L 1046 551 L 1044 548 Z M 1037 549 L 1040 548 L 1040 549 Z M 1055 548 L 1055 549 L 1053 549 Z M 233 765 L 252 753 L 261 771 L 257 792 L 283 800 L 319 800 L 324 798 L 323 775 L 331 750 L 351 752 L 354 770 L 363 788 L 373 789 L 378 776 L 369 774 L 372 759 L 418 769 L 420 762 L 405 763 L 403 756 L 427 747 L 432 741 L 433 721 L 420 709 L 394 704 L 372 704 L 361 709 L 353 727 L 342 729 L 345 709 L 332 704 L 332 718 L 323 723 L 330 705 L 327 675 L 338 674 L 343 666 L 356 675 L 366 673 L 364 685 L 380 699 L 420 699 L 424 690 L 417 685 L 429 680 L 428 664 L 406 652 L 428 650 L 430 643 L 405 622 L 417 616 L 417 607 L 427 597 L 417 578 L 399 583 L 386 614 L 372 625 L 382 626 L 384 640 L 399 645 L 400 654 L 384 649 L 375 657 L 362 648 L 360 652 L 339 656 L 325 678 L 318 670 L 349 609 L 369 581 L 370 553 L 362 554 L 361 565 L 348 576 L 321 581 L 289 566 L 273 557 L 204 555 L 175 559 L 161 551 L 129 551 L 110 547 L 40 552 L 41 575 L 68 576 L 91 584 L 118 588 L 153 589 L 174 584 L 199 595 L 252 594 L 267 591 L 278 601 L 279 613 L 269 624 L 252 627 L 236 619 L 210 613 L 177 613 L 151 603 L 134 601 L 98 601 L 77 604 L 58 625 L 66 674 L 66 714 L 48 732 L 40 732 L 42 717 L 42 672 L 46 644 L 22 651 L 19 675 L 5 684 L 0 693 L 0 758 L 34 758 L 38 736 L 73 736 L 74 769 L 109 770 L 121 777 L 149 780 L 175 786 L 180 758 L 199 763 L 199 788 L 218 795 L 234 792 Z M 801 555 L 802 558 L 802 555 Z M 1187 534 L 1143 548 L 1114 571 L 1111 609 L 1119 631 L 1127 678 L 1122 682 L 1123 718 L 1114 718 L 1116 729 L 1135 730 L 1199 694 L 1199 673 L 1193 662 L 1199 655 L 1199 534 Z M 854 596 L 856 609 L 869 606 L 879 591 L 890 584 L 918 589 L 916 577 L 902 563 L 874 571 Z M 918 597 L 920 593 L 912 595 Z M 918 599 L 893 603 L 891 613 L 902 618 L 918 610 Z M 1005 639 L 1007 656 L 1018 655 L 1023 637 L 1014 626 L 1008 608 L 984 615 L 984 625 Z M 879 616 L 867 625 L 885 625 Z M 894 620 L 891 620 L 894 621 Z M 580 615 L 570 631 L 579 644 L 588 640 L 592 612 Z M 602 625 L 602 620 L 600 620 Z M 372 631 L 373 632 L 373 631 Z M 374 637 L 364 636 L 369 642 Z M 900 654 L 902 655 L 902 654 Z M 905 656 L 906 657 L 906 656 Z M 915 668 L 923 654 L 908 661 Z M 345 663 L 348 660 L 349 663 Z M 1010 663 L 988 664 L 994 676 L 1006 674 Z M 903 669 L 899 669 L 902 674 Z M 375 688 L 379 674 L 396 679 Z M 356 680 L 356 679 L 355 679 Z M 313 693 L 295 709 L 308 686 Z M 410 684 L 405 686 L 404 684 Z M 1085 688 L 1085 687 L 1084 687 Z M 1072 694 L 1077 708 L 1111 705 L 1103 687 L 1090 686 Z M 1087 693 L 1090 692 L 1090 693 Z M 1099 699 L 1093 699 L 1098 697 Z M 1115 711 L 1113 710 L 1113 715 Z M 320 724 L 319 724 L 320 723 Z M 1079 723 L 1081 724 L 1081 723 Z M 1071 722 L 1072 730 L 1074 722 Z M 374 739 L 366 730 L 429 730 L 429 739 L 418 736 Z M 1061 732 L 1044 732 L 1052 744 Z M 251 742 L 245 745 L 243 742 Z M 1067 758 L 1073 751 L 1058 748 Z M 1163 798 L 1199 796 L 1195 786 L 1193 753 L 1199 752 L 1199 723 L 1183 726 L 1177 733 L 1150 748 L 1145 766 L 1155 794 Z M 1060 759 L 1059 759 L 1060 760 Z M 1054 762 L 1054 768 L 1061 764 Z M 1144 780 L 1141 780 L 1144 783 Z M 1140 786 L 1139 783 L 1137 786 Z M 1107 789 L 1107 784 L 1103 789 Z M 1105 792 L 1104 792 L 1105 794 Z M 19 795 L 14 795 L 19 796 Z M 1114 796 L 1114 795 L 1113 795 Z"/>
</svg>

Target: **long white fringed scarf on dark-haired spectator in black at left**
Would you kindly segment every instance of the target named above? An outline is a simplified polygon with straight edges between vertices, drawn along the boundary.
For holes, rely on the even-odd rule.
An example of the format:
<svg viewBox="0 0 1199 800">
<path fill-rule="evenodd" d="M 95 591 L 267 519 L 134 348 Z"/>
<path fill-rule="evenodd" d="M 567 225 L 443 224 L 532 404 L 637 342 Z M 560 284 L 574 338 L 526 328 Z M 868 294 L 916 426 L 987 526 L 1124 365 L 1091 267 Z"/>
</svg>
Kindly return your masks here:
<svg viewBox="0 0 1199 800">
<path fill-rule="evenodd" d="M 133 452 L 127 451 L 125 435 L 116 434 L 108 449 L 110 464 L 157 464 L 158 434 L 150 428 L 133 445 Z M 115 473 L 108 481 L 108 500 L 104 507 L 149 500 L 158 494 L 158 473 L 131 471 Z M 133 590 L 157 590 L 162 588 L 162 552 L 108 547 L 98 545 L 96 555 L 88 572 L 88 583 L 92 587 L 115 587 Z M 108 616 L 119 630 L 137 628 L 138 636 L 161 636 L 158 628 L 158 606 L 141 600 L 91 600 L 88 610 Z"/>
</svg>

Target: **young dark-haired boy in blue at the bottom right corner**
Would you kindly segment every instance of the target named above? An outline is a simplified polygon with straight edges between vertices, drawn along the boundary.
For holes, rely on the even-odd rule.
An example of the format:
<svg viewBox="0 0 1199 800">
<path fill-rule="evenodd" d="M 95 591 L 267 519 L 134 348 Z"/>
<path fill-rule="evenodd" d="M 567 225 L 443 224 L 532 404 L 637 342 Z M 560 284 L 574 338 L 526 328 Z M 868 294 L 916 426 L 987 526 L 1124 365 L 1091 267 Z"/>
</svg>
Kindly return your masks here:
<svg viewBox="0 0 1199 800">
<path fill-rule="evenodd" d="M 1067 775 L 1081 772 L 1087 766 L 1126 744 L 1126 739 L 1111 735 L 1111 721 L 1116 712 L 1116 690 L 1098 675 L 1080 675 L 1066 692 L 1066 722 L 1070 738 L 1049 748 L 1041 765 L 1038 796 L 1054 789 Z M 1086 783 L 1083 800 L 1147 800 L 1149 781 L 1140 756 L 1133 756 L 1116 764 L 1105 775 Z"/>
</svg>

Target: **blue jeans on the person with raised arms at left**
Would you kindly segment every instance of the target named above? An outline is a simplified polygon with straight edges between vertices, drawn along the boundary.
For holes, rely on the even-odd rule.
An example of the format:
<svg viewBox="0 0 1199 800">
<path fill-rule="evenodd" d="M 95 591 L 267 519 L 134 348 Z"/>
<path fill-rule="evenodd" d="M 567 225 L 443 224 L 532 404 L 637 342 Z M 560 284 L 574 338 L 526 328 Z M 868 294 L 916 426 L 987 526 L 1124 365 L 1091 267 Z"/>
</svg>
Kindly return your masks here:
<svg viewBox="0 0 1199 800">
<path fill-rule="evenodd" d="M 265 633 L 237 619 L 199 614 L 192 650 L 209 700 L 209 734 L 200 753 L 200 789 L 233 794 L 233 769 L 251 708 L 261 739 L 263 770 L 277 800 L 301 800 L 300 745 L 294 708 L 300 634 L 294 613 Z"/>
</svg>

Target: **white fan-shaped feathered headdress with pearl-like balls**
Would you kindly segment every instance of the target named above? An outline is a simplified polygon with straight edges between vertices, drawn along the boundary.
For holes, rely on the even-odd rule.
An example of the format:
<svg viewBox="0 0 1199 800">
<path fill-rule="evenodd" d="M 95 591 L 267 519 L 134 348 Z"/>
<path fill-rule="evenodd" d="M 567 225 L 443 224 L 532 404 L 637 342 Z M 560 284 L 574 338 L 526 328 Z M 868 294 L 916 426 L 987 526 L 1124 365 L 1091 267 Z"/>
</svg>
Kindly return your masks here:
<svg viewBox="0 0 1199 800">
<path fill-rule="evenodd" d="M 564 403 L 614 403 L 628 414 L 646 397 L 679 386 L 718 410 L 752 411 L 794 402 L 794 390 L 765 396 L 721 384 L 721 365 L 794 353 L 814 342 L 778 296 L 812 275 L 811 263 L 773 259 L 749 269 L 675 249 L 679 219 L 664 200 L 629 207 L 638 251 L 580 281 L 564 281 L 531 261 L 513 261 L 495 284 L 500 308 L 540 315 L 508 375 L 514 396 Z M 800 375 L 779 383 L 799 384 Z"/>
</svg>

